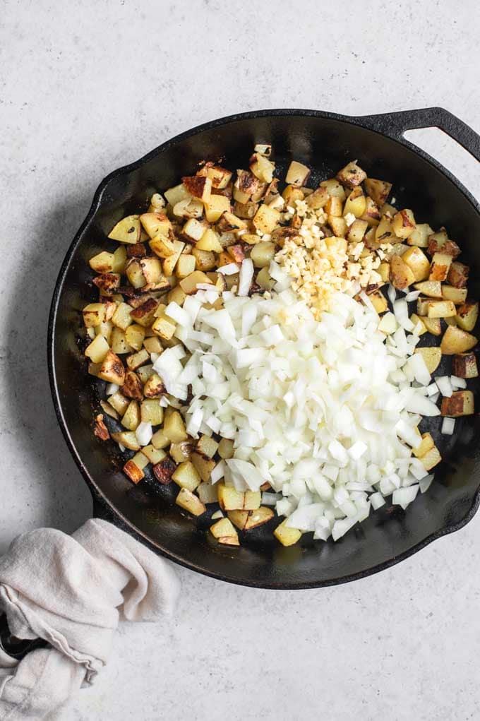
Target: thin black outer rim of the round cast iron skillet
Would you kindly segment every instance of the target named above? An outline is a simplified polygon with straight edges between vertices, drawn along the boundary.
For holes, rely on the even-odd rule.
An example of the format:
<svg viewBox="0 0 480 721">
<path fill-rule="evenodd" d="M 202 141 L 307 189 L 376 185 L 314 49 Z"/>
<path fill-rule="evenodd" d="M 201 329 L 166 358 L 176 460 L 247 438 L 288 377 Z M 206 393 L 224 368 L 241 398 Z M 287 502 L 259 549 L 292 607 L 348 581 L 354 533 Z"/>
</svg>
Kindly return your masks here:
<svg viewBox="0 0 480 721">
<path fill-rule="evenodd" d="M 432 111 L 432 114 L 435 110 L 440 110 L 441 112 L 448 112 L 441 108 L 430 108 L 425 109 L 423 112 L 428 112 L 428 110 Z M 414 112 L 414 111 L 413 111 Z M 243 585 L 250 588 L 265 588 L 265 589 L 271 589 L 271 590 L 296 590 L 296 589 L 307 589 L 307 588 L 324 588 L 327 586 L 332 585 L 340 585 L 343 583 L 350 583 L 350 581 L 353 580 L 359 580 L 361 578 L 366 578 L 370 575 L 373 575 L 375 573 L 381 572 L 383 570 L 386 570 L 387 568 L 390 568 L 397 563 L 411 557 L 415 553 L 419 552 L 423 548 L 427 547 L 429 544 L 431 544 L 433 541 L 436 541 L 437 539 L 442 538 L 443 536 L 446 536 L 448 534 L 454 533 L 455 531 L 460 530 L 463 528 L 463 526 L 466 526 L 467 523 L 471 521 L 472 518 L 474 518 L 476 511 L 479 509 L 480 505 L 480 479 L 479 479 L 479 486 L 477 487 L 477 490 L 474 494 L 471 507 L 466 512 L 465 516 L 461 519 L 461 521 L 458 521 L 458 523 L 451 523 L 446 526 L 443 526 L 442 528 L 439 528 L 434 533 L 430 534 L 429 536 L 426 536 L 425 539 L 422 539 L 422 541 L 419 541 L 419 543 L 414 544 L 411 548 L 407 549 L 403 553 L 399 554 L 398 556 L 391 557 L 390 559 L 387 559 L 386 561 L 383 561 L 382 563 L 375 565 L 373 567 L 370 567 L 368 569 L 351 573 L 349 575 L 341 576 L 339 578 L 332 578 L 329 580 L 324 581 L 312 581 L 312 582 L 305 582 L 301 581 L 298 583 L 291 583 L 291 582 L 278 582 L 278 583 L 269 583 L 264 581 L 257 581 L 254 579 L 244 579 L 244 578 L 238 578 L 234 576 L 229 576 L 226 574 L 214 572 L 212 570 L 208 570 L 208 568 L 205 568 L 203 566 L 200 566 L 196 564 L 195 562 L 189 562 L 185 560 L 185 558 L 180 557 L 178 554 L 175 554 L 174 552 L 171 552 L 164 547 L 161 547 L 159 544 L 157 544 L 155 541 L 151 541 L 151 539 L 146 536 L 146 534 L 141 531 L 140 528 L 135 526 L 131 521 L 126 518 L 126 516 L 123 515 L 120 510 L 117 510 L 112 503 L 110 503 L 110 500 L 107 498 L 107 496 L 100 490 L 96 482 L 94 481 L 92 475 L 89 473 L 89 470 L 87 469 L 84 462 L 81 460 L 81 457 L 79 453 L 76 450 L 76 446 L 74 444 L 74 441 L 71 438 L 70 432 L 68 430 L 68 424 L 66 423 L 65 417 L 63 415 L 63 409 L 61 407 L 61 397 L 58 389 L 58 381 L 56 376 L 56 368 L 55 368 L 55 356 L 54 356 L 54 350 L 55 350 L 55 329 L 56 329 L 56 319 L 58 315 L 58 304 L 60 301 L 61 293 L 63 291 L 63 285 L 65 283 L 66 274 L 68 272 L 68 267 L 71 262 L 71 257 L 74 255 L 74 252 L 76 251 L 76 248 L 78 247 L 79 243 L 81 242 L 82 236 L 84 235 L 84 232 L 86 231 L 89 224 L 92 222 L 92 219 L 94 218 L 95 213 L 97 212 L 99 206 L 102 203 L 102 196 L 105 193 L 105 190 L 107 190 L 108 185 L 110 184 L 110 181 L 114 180 L 117 177 L 120 177 L 121 175 L 128 174 L 139 167 L 141 167 L 143 164 L 146 164 L 148 161 L 153 159 L 155 156 L 161 154 L 166 149 L 169 149 L 170 146 L 173 146 L 181 141 L 186 140 L 187 138 L 191 138 L 192 136 L 197 135 L 198 133 L 201 133 L 203 131 L 212 130 L 213 128 L 216 128 L 220 125 L 228 125 L 228 123 L 234 123 L 238 120 L 252 120 L 254 118 L 267 118 L 267 117 L 285 117 L 285 116 L 300 116 L 300 117 L 314 117 L 314 118 L 326 118 L 329 120 L 336 120 L 341 123 L 345 123 L 347 125 L 354 125 L 360 128 L 364 128 L 365 130 L 372 131 L 373 133 L 378 133 L 382 136 L 385 136 L 389 138 L 391 141 L 394 141 L 396 143 L 399 143 L 401 146 L 405 146 L 409 148 L 410 150 L 414 151 L 415 154 L 419 155 L 424 159 L 427 163 L 432 165 L 435 169 L 440 171 L 445 177 L 450 180 L 450 182 L 453 182 L 455 187 L 458 188 L 458 190 L 463 193 L 463 195 L 466 197 L 466 199 L 473 205 L 474 210 L 476 213 L 480 216 L 480 204 L 476 201 L 474 196 L 468 191 L 468 189 L 461 183 L 461 181 L 458 180 L 448 169 L 443 167 L 440 162 L 438 162 L 436 159 L 432 158 L 430 154 L 425 152 L 423 149 L 419 148 L 418 146 L 414 145 L 414 143 L 411 143 L 410 141 L 407 141 L 404 137 L 402 132 L 400 133 L 389 133 L 388 132 L 388 125 L 383 123 L 382 121 L 389 120 L 390 118 L 395 118 L 396 115 L 403 115 L 403 112 L 400 111 L 398 113 L 396 112 L 387 112 L 387 113 L 380 113 L 377 115 L 364 115 L 364 116 L 350 116 L 350 115 L 340 115 L 338 113 L 334 112 L 326 112 L 323 110 L 302 110 L 298 108 L 285 108 L 285 109 L 267 109 L 267 110 L 252 110 L 248 112 L 240 112 L 235 113 L 234 115 L 227 115 L 223 118 L 217 118 L 215 120 L 210 120 L 207 123 L 202 123 L 200 125 L 196 125 L 194 128 L 190 128 L 187 131 L 184 131 L 183 133 L 179 133 L 177 136 L 174 136 L 173 138 L 169 138 L 164 143 L 161 143 L 159 146 L 157 146 L 155 149 L 149 151 L 147 154 L 142 156 L 140 159 L 135 160 L 134 162 L 124 165 L 120 168 L 117 168 L 113 170 L 110 174 L 108 174 L 98 185 L 97 190 L 95 190 L 94 197 L 92 200 L 92 205 L 89 208 L 88 213 L 86 213 L 86 216 L 84 218 L 84 221 L 81 223 L 81 226 L 79 227 L 79 230 L 76 232 L 74 239 L 72 240 L 70 246 L 68 247 L 66 251 L 66 255 L 63 258 L 63 262 L 61 264 L 61 269 L 58 273 L 58 277 L 55 281 L 55 287 L 53 290 L 53 298 L 50 304 L 50 311 L 48 316 L 48 335 L 47 335 L 47 343 L 48 343 L 48 376 L 50 380 L 50 391 L 52 394 L 53 399 L 53 407 L 55 408 L 55 414 L 57 416 L 58 425 L 60 425 L 63 438 L 65 438 L 68 450 L 70 451 L 71 455 L 74 458 L 74 461 L 76 462 L 76 465 L 79 468 L 79 471 L 81 472 L 82 476 L 84 477 L 84 480 L 86 482 L 86 485 L 89 487 L 89 490 L 92 494 L 92 500 L 93 500 L 93 506 L 94 506 L 94 517 L 103 517 L 108 518 L 109 520 L 113 521 L 117 525 L 119 525 L 123 530 L 127 531 L 130 535 L 136 537 L 138 540 L 140 540 L 143 544 L 145 544 L 148 548 L 153 550 L 156 554 L 159 554 L 178 565 L 188 568 L 190 570 L 194 570 L 202 575 L 206 575 L 209 578 L 215 578 L 216 580 L 222 580 L 227 583 L 234 583 L 235 585 Z M 435 120 L 432 119 L 432 126 L 435 126 Z M 405 128 L 407 129 L 407 128 Z M 413 129 L 413 128 L 408 128 Z M 440 128 L 442 129 L 442 128 Z"/>
</svg>

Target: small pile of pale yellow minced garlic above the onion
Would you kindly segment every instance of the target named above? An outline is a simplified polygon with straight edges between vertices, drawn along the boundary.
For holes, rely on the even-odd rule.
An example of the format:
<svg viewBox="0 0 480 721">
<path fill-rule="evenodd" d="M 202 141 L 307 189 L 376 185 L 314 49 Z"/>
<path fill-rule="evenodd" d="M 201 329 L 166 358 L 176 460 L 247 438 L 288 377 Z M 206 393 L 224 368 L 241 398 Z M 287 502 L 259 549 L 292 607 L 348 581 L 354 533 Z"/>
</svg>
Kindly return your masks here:
<svg viewBox="0 0 480 721">
<path fill-rule="evenodd" d="M 293 216 L 301 219 L 301 226 L 292 229 L 275 260 L 293 279 L 293 290 L 311 307 L 316 319 L 329 308 L 334 293 L 350 291 L 354 283 L 366 288 L 382 282 L 377 269 L 391 252 L 391 244 L 371 250 L 363 242 L 326 237 L 321 230 L 326 214 L 321 208 L 309 208 L 305 200 L 295 200 L 295 208 L 287 207 L 284 219 Z M 348 213 L 345 221 L 350 226 L 355 216 Z"/>
</svg>

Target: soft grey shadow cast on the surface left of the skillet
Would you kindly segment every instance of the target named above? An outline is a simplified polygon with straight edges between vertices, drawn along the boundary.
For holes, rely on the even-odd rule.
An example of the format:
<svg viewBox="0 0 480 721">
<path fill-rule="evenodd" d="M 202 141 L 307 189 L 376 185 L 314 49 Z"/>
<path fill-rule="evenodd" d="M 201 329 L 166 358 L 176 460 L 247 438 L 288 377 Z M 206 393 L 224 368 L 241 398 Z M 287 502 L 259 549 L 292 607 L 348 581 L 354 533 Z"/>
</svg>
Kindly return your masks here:
<svg viewBox="0 0 480 721">
<path fill-rule="evenodd" d="M 6 402 L 19 429 L 22 457 L 30 456 L 25 467 L 35 469 L 31 483 L 43 486 L 42 523 L 67 532 L 92 516 L 92 498 L 53 409 L 47 366 L 48 312 L 63 257 L 90 200 L 90 196 L 66 200 L 38 218 L 11 280 L 7 308 Z M 8 505 L 4 513 L 9 513 Z M 19 518 L 19 532 L 27 530 L 21 522 Z M 0 553 L 4 550 L 0 547 Z"/>
</svg>

